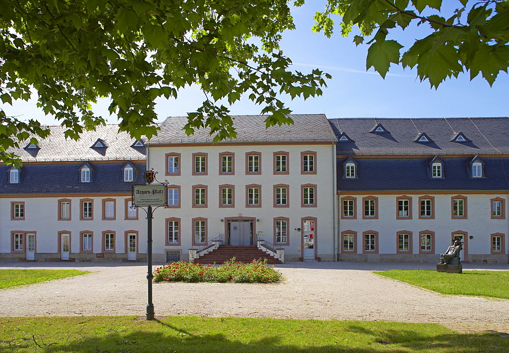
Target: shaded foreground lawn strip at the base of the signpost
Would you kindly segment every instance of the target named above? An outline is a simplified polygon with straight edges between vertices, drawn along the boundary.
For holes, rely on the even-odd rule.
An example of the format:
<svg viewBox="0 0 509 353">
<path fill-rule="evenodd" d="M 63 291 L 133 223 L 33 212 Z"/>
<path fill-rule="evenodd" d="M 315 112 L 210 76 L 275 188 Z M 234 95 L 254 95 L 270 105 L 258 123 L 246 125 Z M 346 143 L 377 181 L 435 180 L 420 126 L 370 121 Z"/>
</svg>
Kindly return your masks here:
<svg viewBox="0 0 509 353">
<path fill-rule="evenodd" d="M 178 316 L 0 318 L 9 352 L 507 352 L 509 339 L 431 323 Z"/>
</svg>

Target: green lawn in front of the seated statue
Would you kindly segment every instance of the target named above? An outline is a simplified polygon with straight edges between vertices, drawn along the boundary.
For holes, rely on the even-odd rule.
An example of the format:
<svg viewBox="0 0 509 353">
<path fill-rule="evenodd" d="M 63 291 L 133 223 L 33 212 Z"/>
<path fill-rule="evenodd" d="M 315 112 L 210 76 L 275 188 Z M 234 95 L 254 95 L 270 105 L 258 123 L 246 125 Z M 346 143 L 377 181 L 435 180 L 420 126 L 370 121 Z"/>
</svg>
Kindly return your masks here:
<svg viewBox="0 0 509 353">
<path fill-rule="evenodd" d="M 442 294 L 509 299 L 509 271 L 464 271 L 447 274 L 433 270 L 374 271 L 375 274 Z"/>
</svg>

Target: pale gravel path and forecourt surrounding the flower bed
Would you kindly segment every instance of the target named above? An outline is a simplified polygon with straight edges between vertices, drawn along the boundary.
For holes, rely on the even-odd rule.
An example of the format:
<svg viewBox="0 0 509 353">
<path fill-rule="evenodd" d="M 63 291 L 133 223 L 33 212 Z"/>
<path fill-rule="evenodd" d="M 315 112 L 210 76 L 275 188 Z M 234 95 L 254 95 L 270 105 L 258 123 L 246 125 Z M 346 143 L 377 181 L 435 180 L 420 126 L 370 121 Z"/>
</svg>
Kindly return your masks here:
<svg viewBox="0 0 509 353">
<path fill-rule="evenodd" d="M 0 262 L 0 268 L 75 268 L 91 274 L 0 291 L 0 316 L 145 315 L 143 263 Z M 203 315 L 439 322 L 463 332 L 509 333 L 509 301 L 444 296 L 372 270 L 433 269 L 427 263 L 294 262 L 281 284 L 155 283 L 156 316 Z M 464 269 L 507 270 L 507 264 Z"/>
</svg>

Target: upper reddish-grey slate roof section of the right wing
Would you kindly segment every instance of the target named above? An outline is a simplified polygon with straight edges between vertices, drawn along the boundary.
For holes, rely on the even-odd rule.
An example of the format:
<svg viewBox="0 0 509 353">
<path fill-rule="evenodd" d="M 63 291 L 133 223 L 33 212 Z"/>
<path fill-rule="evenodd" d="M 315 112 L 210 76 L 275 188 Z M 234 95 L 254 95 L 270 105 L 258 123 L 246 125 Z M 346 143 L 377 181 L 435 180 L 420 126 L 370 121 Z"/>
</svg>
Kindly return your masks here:
<svg viewBox="0 0 509 353">
<path fill-rule="evenodd" d="M 337 154 L 509 154 L 509 118 L 338 118 L 329 119 L 338 137 Z M 373 133 L 377 124 L 388 132 Z M 425 132 L 432 142 L 418 143 Z M 469 140 L 452 142 L 462 132 Z"/>
</svg>

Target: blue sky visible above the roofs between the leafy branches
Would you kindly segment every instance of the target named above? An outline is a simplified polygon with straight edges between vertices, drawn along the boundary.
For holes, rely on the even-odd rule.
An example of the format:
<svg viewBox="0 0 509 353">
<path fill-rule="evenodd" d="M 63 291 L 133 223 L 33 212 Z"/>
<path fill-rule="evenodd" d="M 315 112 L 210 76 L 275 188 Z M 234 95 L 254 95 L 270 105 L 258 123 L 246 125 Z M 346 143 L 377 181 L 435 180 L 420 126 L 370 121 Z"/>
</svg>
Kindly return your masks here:
<svg viewBox="0 0 509 353">
<path fill-rule="evenodd" d="M 428 82 L 420 82 L 415 70 L 403 70 L 401 66 L 391 65 L 385 79 L 373 68 L 366 72 L 368 46 L 356 47 L 352 42 L 354 34 L 347 38 L 341 34 L 326 38 L 322 33 L 312 32 L 313 16 L 317 10 L 323 9 L 324 4 L 324 1 L 313 0 L 301 8 L 294 8 L 292 14 L 297 29 L 285 32 L 281 41 L 281 49 L 292 59 L 295 70 L 310 72 L 319 68 L 332 75 L 321 97 L 305 101 L 283 97 L 294 114 L 323 113 L 328 118 L 509 116 L 509 77 L 504 72 L 499 74 L 493 87 L 480 75 L 470 81 L 467 73 L 460 74 L 457 79 L 446 80 L 438 90 L 432 89 Z M 451 2 L 447 5 L 455 4 Z M 388 39 L 398 40 L 407 47 L 430 31 L 428 26 L 421 25 L 392 33 L 394 36 Z M 159 120 L 195 111 L 203 100 L 203 95 L 196 87 L 181 91 L 177 100 L 159 99 L 156 106 Z M 109 101 L 103 100 L 97 104 L 95 111 L 108 118 L 108 123 L 116 123 L 116 117 L 109 117 L 107 113 L 108 105 Z M 37 118 L 44 124 L 58 124 L 51 117 L 45 117 L 35 102 L 16 102 L 13 107 L 3 105 L 3 108 L 8 115 Z M 261 109 L 247 97 L 230 107 L 233 115 L 257 115 Z"/>
</svg>

